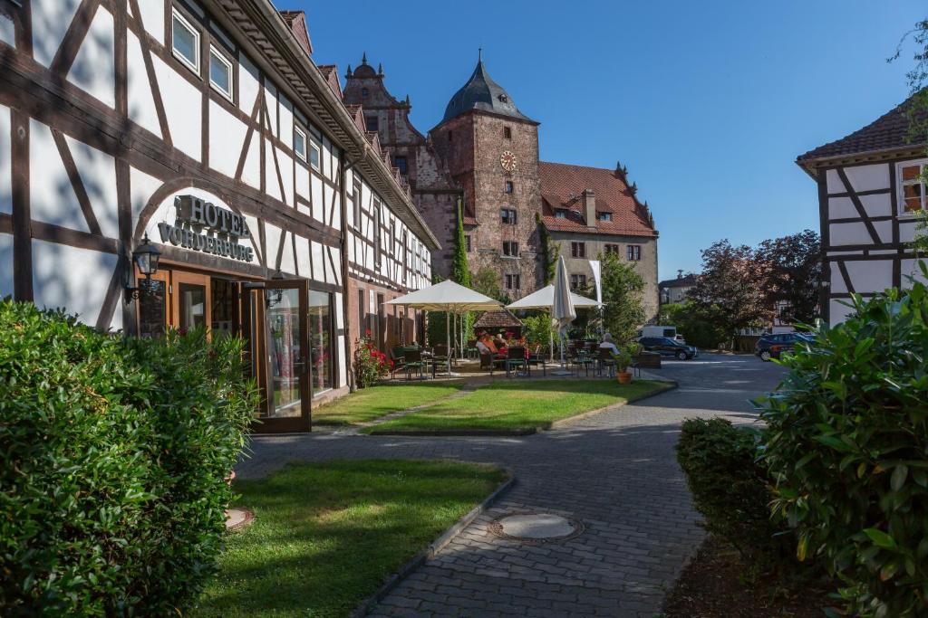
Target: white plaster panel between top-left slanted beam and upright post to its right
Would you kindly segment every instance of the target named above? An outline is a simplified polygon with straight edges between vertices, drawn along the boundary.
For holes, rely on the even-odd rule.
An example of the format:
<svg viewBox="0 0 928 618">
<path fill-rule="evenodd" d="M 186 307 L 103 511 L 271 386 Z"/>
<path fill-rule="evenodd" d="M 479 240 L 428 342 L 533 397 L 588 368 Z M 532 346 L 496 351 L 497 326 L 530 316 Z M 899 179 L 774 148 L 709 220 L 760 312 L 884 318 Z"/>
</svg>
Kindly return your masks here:
<svg viewBox="0 0 928 618">
<path fill-rule="evenodd" d="M 71 65 L 68 81 L 108 107 L 116 107 L 116 64 L 113 16 L 103 7 L 90 23 L 90 30 Z"/>
</svg>

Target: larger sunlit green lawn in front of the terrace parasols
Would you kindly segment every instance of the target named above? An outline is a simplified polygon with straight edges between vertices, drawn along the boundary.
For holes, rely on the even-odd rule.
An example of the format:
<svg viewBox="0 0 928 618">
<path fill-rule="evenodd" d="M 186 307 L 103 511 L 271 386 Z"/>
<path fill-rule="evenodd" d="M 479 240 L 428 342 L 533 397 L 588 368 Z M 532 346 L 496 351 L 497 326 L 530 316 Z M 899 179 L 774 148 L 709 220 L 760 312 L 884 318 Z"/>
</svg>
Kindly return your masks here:
<svg viewBox="0 0 928 618">
<path fill-rule="evenodd" d="M 367 428 L 367 433 L 520 431 L 548 428 L 554 421 L 658 393 L 665 382 L 636 380 L 512 380 L 486 385 L 450 401 Z"/>
</svg>

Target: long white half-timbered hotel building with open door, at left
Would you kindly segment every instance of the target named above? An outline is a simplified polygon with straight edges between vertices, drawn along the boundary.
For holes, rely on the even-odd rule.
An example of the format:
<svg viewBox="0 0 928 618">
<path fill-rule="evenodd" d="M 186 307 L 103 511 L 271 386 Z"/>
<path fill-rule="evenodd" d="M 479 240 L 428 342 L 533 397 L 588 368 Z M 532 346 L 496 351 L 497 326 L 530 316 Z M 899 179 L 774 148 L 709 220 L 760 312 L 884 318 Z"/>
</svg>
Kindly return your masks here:
<svg viewBox="0 0 928 618">
<path fill-rule="evenodd" d="M 302 14 L 0 0 L 0 68 L 0 296 L 129 335 L 242 335 L 264 430 L 308 429 L 348 389 L 353 316 L 376 314 L 358 282 L 431 279 L 437 243 Z"/>
</svg>

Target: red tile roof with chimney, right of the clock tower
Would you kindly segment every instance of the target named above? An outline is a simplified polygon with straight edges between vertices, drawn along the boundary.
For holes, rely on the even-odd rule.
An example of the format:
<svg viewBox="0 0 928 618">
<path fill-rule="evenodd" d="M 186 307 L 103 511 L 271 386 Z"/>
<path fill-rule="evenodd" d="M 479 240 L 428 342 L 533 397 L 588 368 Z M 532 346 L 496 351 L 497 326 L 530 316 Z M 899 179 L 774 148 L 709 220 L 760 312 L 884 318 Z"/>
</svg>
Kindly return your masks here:
<svg viewBox="0 0 928 618">
<path fill-rule="evenodd" d="M 622 172 L 587 168 L 563 163 L 538 163 L 541 172 L 542 218 L 552 232 L 601 233 L 622 236 L 657 236 L 648 208 L 625 183 Z M 583 192 L 596 194 L 597 212 L 611 212 L 612 221 L 596 221 L 596 229 L 586 226 Z M 554 216 L 554 208 L 573 211 L 566 219 Z"/>
</svg>

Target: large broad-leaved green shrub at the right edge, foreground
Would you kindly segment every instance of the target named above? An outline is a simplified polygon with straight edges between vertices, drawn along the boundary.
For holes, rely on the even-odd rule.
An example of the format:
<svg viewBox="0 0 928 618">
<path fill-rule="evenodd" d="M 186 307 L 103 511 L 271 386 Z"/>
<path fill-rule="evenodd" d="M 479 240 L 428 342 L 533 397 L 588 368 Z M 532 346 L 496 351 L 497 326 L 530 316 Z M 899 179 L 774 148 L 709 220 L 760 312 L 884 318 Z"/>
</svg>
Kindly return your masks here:
<svg viewBox="0 0 928 618">
<path fill-rule="evenodd" d="M 923 268 L 923 267 L 922 267 Z M 928 274 L 928 273 L 926 273 Z M 761 402 L 774 509 L 850 612 L 928 615 L 928 289 L 890 290 L 781 362 Z"/>
</svg>

